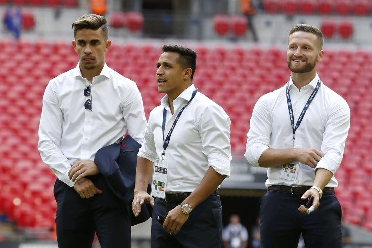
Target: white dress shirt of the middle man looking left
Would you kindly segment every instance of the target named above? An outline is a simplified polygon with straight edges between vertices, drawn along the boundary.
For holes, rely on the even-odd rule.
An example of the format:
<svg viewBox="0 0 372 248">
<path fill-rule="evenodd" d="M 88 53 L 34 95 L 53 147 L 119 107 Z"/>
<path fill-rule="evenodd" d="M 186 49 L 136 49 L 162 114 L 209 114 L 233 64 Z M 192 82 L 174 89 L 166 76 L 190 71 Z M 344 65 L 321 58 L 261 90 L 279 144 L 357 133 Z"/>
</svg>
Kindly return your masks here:
<svg viewBox="0 0 372 248">
<path fill-rule="evenodd" d="M 163 109 L 167 111 L 164 138 L 168 135 L 180 109 L 188 103 L 194 85 L 174 101 L 174 114 L 166 95 L 149 117 L 145 140 L 138 156 L 154 161 L 163 152 Z M 221 175 L 230 175 L 231 121 L 215 102 L 197 92 L 182 112 L 165 151 L 164 163 L 169 168 L 166 193 L 193 192 L 211 166 Z"/>
</svg>

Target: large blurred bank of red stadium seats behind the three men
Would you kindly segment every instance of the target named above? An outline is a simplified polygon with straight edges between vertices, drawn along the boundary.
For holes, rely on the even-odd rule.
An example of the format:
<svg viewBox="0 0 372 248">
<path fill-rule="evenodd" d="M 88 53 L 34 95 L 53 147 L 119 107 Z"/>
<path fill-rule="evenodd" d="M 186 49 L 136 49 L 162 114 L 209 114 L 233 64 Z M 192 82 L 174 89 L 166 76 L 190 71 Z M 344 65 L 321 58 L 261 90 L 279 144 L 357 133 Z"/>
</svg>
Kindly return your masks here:
<svg viewBox="0 0 372 248">
<path fill-rule="evenodd" d="M 18 44 L 0 40 L 2 51 L 23 49 L 26 51 L 26 47 L 39 51 L 43 47 L 57 49 L 58 47 L 71 48 L 70 46 L 60 42 L 45 43 L 41 40 L 35 42 L 21 40 Z M 285 84 L 289 78 L 290 72 L 285 63 L 285 50 L 275 47 L 266 49 L 259 46 L 227 47 L 223 45 L 215 47 L 195 45 L 194 49 L 198 53 L 198 59 L 201 59 L 201 61 L 198 60 L 194 84 L 228 113 L 232 121 L 232 151 L 243 153 L 246 134 L 249 130 L 249 119 L 255 102 L 264 93 Z M 71 64 L 72 68 L 76 66 L 78 58 L 72 50 L 68 51 L 71 53 L 64 58 L 66 61 L 71 59 L 74 62 Z M 151 109 L 159 105 L 161 98 L 156 90 L 155 79 L 156 59 L 160 54 L 161 50 L 158 45 L 127 43 L 113 45 L 106 57 L 109 66 L 137 82 L 143 96 L 146 116 L 149 115 Z M 331 59 L 329 62 L 324 60 L 324 63 L 319 64 L 319 76 L 326 85 L 330 85 L 348 101 L 353 116 L 344 159 L 336 175 L 340 178 L 341 190 L 336 193 L 340 195 L 340 203 L 347 215 L 346 220 L 356 223 L 360 216 L 367 215 L 366 211 L 372 205 L 372 197 L 364 194 L 360 189 L 361 186 L 365 188 L 372 186 L 372 168 L 367 167 L 372 157 L 366 149 L 372 145 L 372 129 L 369 128 L 369 115 L 372 111 L 372 100 L 369 97 L 372 94 L 372 88 L 370 88 L 372 73 L 368 72 L 367 67 L 362 67 L 367 66 L 368 61 L 372 61 L 372 52 L 335 49 L 326 51 L 326 54 Z M 0 56 L 5 55 L 0 54 Z M 25 57 L 22 59 L 22 56 Z M 40 56 L 40 54 L 22 52 L 16 54 L 13 60 L 3 59 L 6 57 L 0 59 L 0 67 L 7 68 L 6 73 L 0 72 L 2 80 L 0 85 L 0 112 L 2 113 L 0 115 L 0 142 L 3 144 L 0 147 L 0 157 L 3 161 L 0 163 L 0 213 L 10 213 L 19 225 L 43 226 L 53 224 L 55 211 L 55 205 L 51 204 L 54 202 L 53 192 L 51 188 L 45 190 L 45 185 L 53 184 L 55 176 L 42 163 L 37 150 L 38 121 L 43 91 L 48 80 L 53 77 L 49 73 L 63 72 L 48 70 L 44 63 L 53 64 L 52 67 L 58 70 L 69 68 L 56 66 L 58 63 L 54 61 L 53 56 L 45 55 L 42 57 L 43 61 L 35 63 L 33 70 L 29 71 L 22 61 L 33 61 L 33 56 Z M 360 61 L 355 60 L 355 57 L 361 58 Z M 217 61 L 220 63 L 217 64 L 216 58 L 223 58 L 223 60 Z M 136 63 L 129 63 L 128 61 L 131 60 Z M 250 60 L 253 62 L 249 62 Z M 284 63 L 278 62 L 282 60 Z M 272 61 L 270 64 L 272 66 L 269 66 L 268 61 Z M 344 64 L 345 61 L 348 63 Z M 364 64 L 360 64 L 363 61 Z M 340 64 L 336 66 L 338 63 Z M 363 68 L 363 73 L 352 73 L 354 69 L 349 66 L 353 66 L 354 63 L 359 68 Z M 38 68 L 39 66 L 41 69 Z M 22 71 L 28 72 L 17 73 L 16 68 L 22 68 Z M 39 72 L 34 74 L 35 71 Z M 46 71 L 49 72 L 45 73 Z M 358 81 L 355 82 L 356 80 Z M 352 87 L 355 83 L 358 87 Z M 25 150 L 24 147 L 27 149 Z M 354 173 L 355 170 L 362 171 L 363 177 Z M 19 173 L 20 171 L 23 173 Z M 35 174 L 35 171 L 42 172 L 42 179 Z M 25 178 L 32 179 L 31 183 L 24 180 Z M 357 208 L 355 211 L 357 214 L 352 212 L 350 199 L 343 197 L 342 187 L 349 189 L 348 192 L 353 197 L 355 196 L 355 201 L 364 201 L 353 205 L 353 208 Z M 43 214 L 37 211 L 38 208 L 43 209 Z M 27 215 L 27 212 L 30 215 Z M 365 228 L 372 226 L 364 221 L 358 223 Z"/>
</svg>

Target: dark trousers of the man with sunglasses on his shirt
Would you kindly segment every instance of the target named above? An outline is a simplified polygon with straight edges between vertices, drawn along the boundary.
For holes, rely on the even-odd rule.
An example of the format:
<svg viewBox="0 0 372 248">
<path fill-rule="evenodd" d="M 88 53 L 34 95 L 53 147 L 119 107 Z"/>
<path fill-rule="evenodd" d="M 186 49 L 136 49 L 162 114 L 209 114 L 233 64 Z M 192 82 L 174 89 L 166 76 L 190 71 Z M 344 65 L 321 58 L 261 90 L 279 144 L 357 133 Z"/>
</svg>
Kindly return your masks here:
<svg viewBox="0 0 372 248">
<path fill-rule="evenodd" d="M 59 248 L 91 248 L 95 232 L 102 248 L 129 248 L 131 209 L 98 178 L 94 183 L 103 191 L 83 199 L 73 187 L 59 179 L 54 186 L 57 201 L 56 228 Z"/>
</svg>

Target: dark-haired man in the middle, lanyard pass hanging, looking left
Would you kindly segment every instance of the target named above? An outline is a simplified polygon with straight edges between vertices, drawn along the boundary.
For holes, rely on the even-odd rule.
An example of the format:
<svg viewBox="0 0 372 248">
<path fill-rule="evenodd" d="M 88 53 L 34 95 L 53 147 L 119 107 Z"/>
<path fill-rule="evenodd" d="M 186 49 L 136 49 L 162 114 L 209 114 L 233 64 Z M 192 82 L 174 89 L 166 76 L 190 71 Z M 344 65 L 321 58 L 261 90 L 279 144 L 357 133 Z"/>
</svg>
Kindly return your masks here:
<svg viewBox="0 0 372 248">
<path fill-rule="evenodd" d="M 230 174 L 231 121 L 194 87 L 196 52 L 179 45 L 162 49 L 156 75 L 158 92 L 167 95 L 151 111 L 138 153 L 133 213 L 144 203 L 154 207 L 153 248 L 221 247 L 217 188 Z"/>
</svg>

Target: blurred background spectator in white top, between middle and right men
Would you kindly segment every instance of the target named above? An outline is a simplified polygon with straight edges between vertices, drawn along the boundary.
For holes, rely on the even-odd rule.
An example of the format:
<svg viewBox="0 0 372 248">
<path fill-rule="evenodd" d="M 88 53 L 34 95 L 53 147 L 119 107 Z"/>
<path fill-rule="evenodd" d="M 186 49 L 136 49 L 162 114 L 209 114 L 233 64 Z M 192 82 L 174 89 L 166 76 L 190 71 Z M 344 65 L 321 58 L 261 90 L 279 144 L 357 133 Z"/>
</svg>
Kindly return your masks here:
<svg viewBox="0 0 372 248">
<path fill-rule="evenodd" d="M 222 232 L 222 240 L 225 248 L 246 248 L 248 245 L 247 228 L 240 223 L 237 214 L 230 216 L 228 224 Z"/>
</svg>

